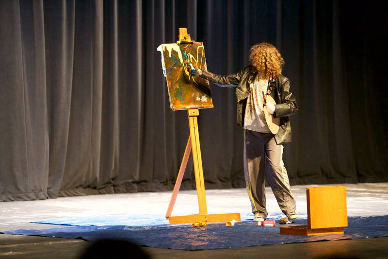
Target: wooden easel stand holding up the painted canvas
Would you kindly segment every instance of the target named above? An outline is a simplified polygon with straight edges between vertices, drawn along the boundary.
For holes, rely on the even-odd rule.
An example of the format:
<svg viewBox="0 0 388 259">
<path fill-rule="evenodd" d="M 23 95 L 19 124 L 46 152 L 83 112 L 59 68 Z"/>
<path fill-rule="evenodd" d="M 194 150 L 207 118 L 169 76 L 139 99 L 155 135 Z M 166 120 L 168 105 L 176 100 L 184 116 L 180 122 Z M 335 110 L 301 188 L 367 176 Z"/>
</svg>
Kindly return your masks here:
<svg viewBox="0 0 388 259">
<path fill-rule="evenodd" d="M 179 28 L 179 43 L 190 43 L 194 42 L 191 40 L 189 34 L 187 34 L 186 28 Z M 198 132 L 198 121 L 199 116 L 198 109 L 188 109 L 187 115 L 189 118 L 190 136 L 187 140 L 185 153 L 183 155 L 182 162 L 180 164 L 177 181 L 175 182 L 174 190 L 171 195 L 170 203 L 167 208 L 166 218 L 170 224 L 184 224 L 194 223 L 196 221 L 206 222 L 226 222 L 231 220 L 240 221 L 240 213 L 226 213 L 226 214 L 208 214 L 206 206 L 205 196 L 205 182 L 203 179 L 203 168 L 202 168 L 202 156 L 201 147 L 199 144 L 199 132 Z M 194 162 L 194 175 L 195 175 L 195 186 L 198 197 L 199 214 L 187 215 L 187 216 L 171 216 L 175 201 L 178 196 L 180 184 L 182 183 L 183 175 L 186 170 L 187 162 L 189 160 L 190 152 L 193 150 L 193 162 Z"/>
</svg>

